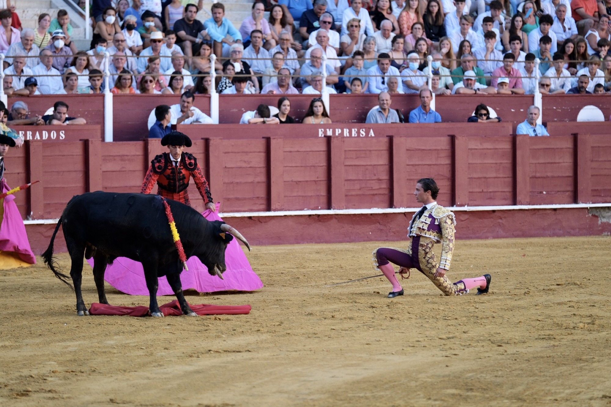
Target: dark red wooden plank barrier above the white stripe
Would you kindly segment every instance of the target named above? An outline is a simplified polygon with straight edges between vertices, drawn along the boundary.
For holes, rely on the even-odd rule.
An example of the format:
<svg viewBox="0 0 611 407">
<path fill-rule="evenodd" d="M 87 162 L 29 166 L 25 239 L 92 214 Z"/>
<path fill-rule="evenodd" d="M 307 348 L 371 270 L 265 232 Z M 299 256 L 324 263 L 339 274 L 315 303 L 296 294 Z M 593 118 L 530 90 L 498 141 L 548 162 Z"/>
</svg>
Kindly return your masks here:
<svg viewBox="0 0 611 407">
<path fill-rule="evenodd" d="M 23 216 L 56 218 L 75 194 L 137 192 L 158 140 L 29 141 L 5 158 Z M 415 182 L 434 177 L 442 205 L 611 202 L 611 141 L 602 134 L 196 139 L 189 149 L 225 212 L 416 205 Z M 67 165 L 69 163 L 69 165 Z M 203 209 L 191 187 L 194 207 Z"/>
</svg>

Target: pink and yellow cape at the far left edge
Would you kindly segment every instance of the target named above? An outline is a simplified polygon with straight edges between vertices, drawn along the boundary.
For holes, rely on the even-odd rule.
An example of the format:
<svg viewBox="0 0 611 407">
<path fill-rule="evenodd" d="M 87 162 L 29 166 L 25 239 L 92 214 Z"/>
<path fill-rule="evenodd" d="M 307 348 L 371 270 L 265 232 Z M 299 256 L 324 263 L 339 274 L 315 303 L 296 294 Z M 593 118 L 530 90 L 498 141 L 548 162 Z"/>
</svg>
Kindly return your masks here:
<svg viewBox="0 0 611 407">
<path fill-rule="evenodd" d="M 10 187 L 4 178 L 0 181 L 0 186 L 2 193 L 10 191 Z M 27 240 L 26 227 L 17 205 L 13 202 L 14 200 L 15 196 L 9 195 L 2 202 L 4 216 L 2 216 L 2 224 L 0 224 L 0 251 L 15 252 L 24 262 L 36 264 L 36 257 L 32 253 L 30 242 Z"/>
</svg>

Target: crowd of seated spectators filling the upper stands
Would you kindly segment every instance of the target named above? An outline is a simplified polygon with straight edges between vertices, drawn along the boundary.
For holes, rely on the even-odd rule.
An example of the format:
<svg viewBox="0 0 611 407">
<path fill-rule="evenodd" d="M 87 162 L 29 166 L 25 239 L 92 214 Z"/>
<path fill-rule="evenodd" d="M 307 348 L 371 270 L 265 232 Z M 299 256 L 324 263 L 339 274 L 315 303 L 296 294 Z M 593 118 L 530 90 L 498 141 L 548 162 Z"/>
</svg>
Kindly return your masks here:
<svg viewBox="0 0 611 407">
<path fill-rule="evenodd" d="M 535 59 L 543 94 L 611 90 L 606 2 L 257 0 L 239 27 L 221 2 L 205 20 L 202 7 L 93 0 L 89 50 L 78 50 L 66 10 L 31 28 L 1 10 L 5 92 L 104 92 L 106 53 L 114 94 L 418 94 L 430 75 L 435 95 L 533 94 Z"/>
</svg>

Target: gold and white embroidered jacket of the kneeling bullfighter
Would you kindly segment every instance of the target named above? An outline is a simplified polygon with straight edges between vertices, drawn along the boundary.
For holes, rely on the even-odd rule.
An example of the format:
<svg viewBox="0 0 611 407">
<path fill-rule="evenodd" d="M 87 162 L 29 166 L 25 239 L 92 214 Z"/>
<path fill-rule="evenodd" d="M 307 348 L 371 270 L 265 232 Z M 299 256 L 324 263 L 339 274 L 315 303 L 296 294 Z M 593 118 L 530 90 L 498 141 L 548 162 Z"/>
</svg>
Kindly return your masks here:
<svg viewBox="0 0 611 407">
<path fill-rule="evenodd" d="M 454 250 L 454 233 L 456 231 L 456 218 L 454 213 L 441 205 L 426 209 L 420 219 L 416 214 L 409 222 L 408 237 L 428 237 L 439 243 L 441 241 L 441 263 L 439 267 L 450 270 L 452 251 Z"/>
</svg>

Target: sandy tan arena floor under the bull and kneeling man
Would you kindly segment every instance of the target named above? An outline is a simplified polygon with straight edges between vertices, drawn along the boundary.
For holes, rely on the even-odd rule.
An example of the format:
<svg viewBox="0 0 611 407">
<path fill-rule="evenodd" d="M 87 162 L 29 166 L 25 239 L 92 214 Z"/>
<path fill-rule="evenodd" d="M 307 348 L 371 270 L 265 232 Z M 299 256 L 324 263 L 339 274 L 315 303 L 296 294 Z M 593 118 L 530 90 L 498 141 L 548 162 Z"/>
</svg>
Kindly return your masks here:
<svg viewBox="0 0 611 407">
<path fill-rule="evenodd" d="M 76 317 L 44 265 L 1 271 L 0 404 L 611 405 L 611 237 L 458 241 L 450 279 L 487 271 L 487 296 L 417 271 L 396 299 L 382 278 L 324 288 L 376 274 L 382 245 L 255 247 L 265 288 L 188 296 L 250 315 Z"/>
</svg>

